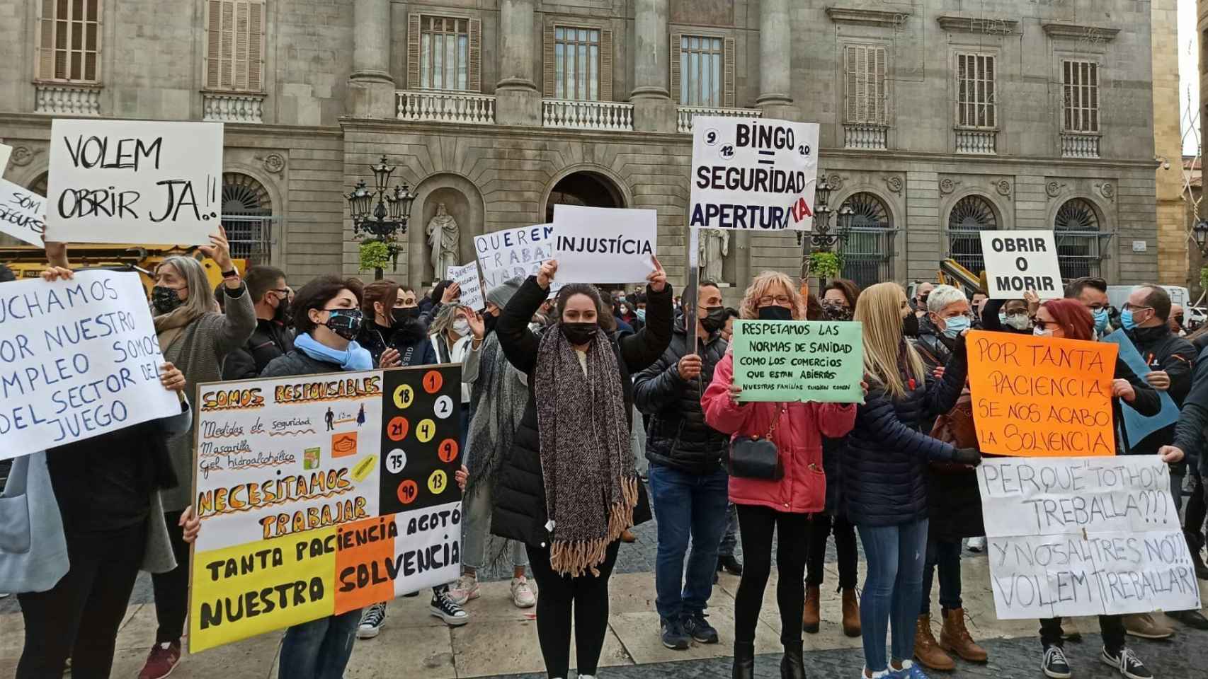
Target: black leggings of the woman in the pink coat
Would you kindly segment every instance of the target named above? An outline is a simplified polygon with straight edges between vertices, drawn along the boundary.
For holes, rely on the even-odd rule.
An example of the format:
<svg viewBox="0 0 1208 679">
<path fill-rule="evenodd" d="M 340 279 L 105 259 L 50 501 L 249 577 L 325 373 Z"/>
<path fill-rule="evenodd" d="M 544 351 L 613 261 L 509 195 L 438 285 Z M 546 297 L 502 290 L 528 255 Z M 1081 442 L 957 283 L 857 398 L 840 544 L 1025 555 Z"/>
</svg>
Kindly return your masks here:
<svg viewBox="0 0 1208 679">
<path fill-rule="evenodd" d="M 789 514 L 754 504 L 738 505 L 738 528 L 743 538 L 743 579 L 734 597 L 734 642 L 754 643 L 763 589 L 772 574 L 772 529 L 778 533 L 776 566 L 780 580 L 776 601 L 780 608 L 780 642 L 801 643 L 801 615 L 806 608 L 806 554 L 808 514 Z"/>
</svg>

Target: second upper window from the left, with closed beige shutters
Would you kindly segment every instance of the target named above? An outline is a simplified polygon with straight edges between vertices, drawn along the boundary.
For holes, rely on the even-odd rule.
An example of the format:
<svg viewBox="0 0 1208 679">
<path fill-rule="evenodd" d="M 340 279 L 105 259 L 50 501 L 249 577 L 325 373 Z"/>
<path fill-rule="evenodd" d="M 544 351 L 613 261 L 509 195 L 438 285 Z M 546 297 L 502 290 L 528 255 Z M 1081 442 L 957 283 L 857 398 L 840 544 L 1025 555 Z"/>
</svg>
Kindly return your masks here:
<svg viewBox="0 0 1208 679">
<path fill-rule="evenodd" d="M 208 0 L 205 13 L 205 88 L 262 92 L 265 4 Z"/>
</svg>

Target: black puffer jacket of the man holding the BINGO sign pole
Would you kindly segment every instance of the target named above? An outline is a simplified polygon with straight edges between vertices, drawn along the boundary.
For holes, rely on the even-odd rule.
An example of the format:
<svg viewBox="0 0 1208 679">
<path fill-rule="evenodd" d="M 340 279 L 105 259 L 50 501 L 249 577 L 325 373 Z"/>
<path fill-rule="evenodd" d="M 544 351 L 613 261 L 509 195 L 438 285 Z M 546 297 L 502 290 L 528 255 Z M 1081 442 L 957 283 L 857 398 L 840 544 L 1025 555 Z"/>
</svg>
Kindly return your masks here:
<svg viewBox="0 0 1208 679">
<path fill-rule="evenodd" d="M 646 432 L 646 460 L 689 474 L 712 474 L 720 469 L 730 447 L 730 437 L 704 423 L 701 396 L 713 381 L 713 371 L 726 355 L 721 333 L 701 338 L 701 376 L 684 380 L 679 362 L 691 353 L 684 321 L 675 321 L 672 343 L 658 361 L 633 379 L 633 400 L 650 415 Z"/>
</svg>

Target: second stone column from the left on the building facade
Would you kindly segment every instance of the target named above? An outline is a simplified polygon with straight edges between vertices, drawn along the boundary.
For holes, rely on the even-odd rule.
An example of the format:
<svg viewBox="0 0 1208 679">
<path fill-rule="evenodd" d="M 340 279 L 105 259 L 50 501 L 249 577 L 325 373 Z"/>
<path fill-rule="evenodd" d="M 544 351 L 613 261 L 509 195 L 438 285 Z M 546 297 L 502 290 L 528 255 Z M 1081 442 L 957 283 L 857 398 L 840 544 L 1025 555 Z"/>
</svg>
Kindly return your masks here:
<svg viewBox="0 0 1208 679">
<path fill-rule="evenodd" d="M 541 124 L 533 4 L 534 0 L 499 2 L 500 80 L 495 86 L 495 122 L 501 125 Z"/>
</svg>

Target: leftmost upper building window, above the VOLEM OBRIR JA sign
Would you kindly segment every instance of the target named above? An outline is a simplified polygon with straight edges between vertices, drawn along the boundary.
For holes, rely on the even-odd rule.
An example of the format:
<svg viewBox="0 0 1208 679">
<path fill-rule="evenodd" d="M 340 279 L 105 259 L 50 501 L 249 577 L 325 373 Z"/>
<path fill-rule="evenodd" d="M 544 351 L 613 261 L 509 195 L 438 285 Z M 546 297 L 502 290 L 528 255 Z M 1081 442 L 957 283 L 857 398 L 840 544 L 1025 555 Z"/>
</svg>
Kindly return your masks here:
<svg viewBox="0 0 1208 679">
<path fill-rule="evenodd" d="M 42 0 L 37 80 L 100 81 L 100 0 Z"/>
</svg>

